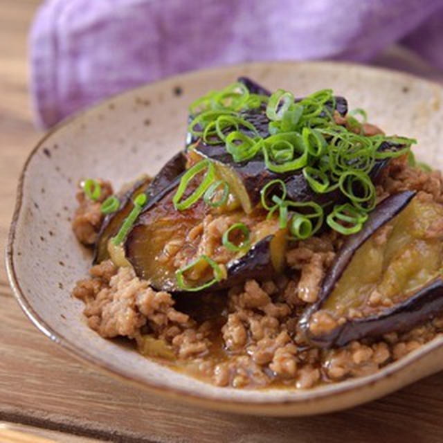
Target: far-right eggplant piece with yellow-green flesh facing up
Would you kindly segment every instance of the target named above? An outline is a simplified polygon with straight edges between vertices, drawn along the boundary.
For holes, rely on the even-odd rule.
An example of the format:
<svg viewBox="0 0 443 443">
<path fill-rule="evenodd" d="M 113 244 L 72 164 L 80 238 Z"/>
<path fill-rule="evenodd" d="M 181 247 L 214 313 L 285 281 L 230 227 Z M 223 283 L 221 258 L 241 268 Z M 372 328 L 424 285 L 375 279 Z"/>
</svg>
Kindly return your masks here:
<svg viewBox="0 0 443 443">
<path fill-rule="evenodd" d="M 443 206 L 392 195 L 338 252 L 300 328 L 318 347 L 401 332 L 443 310 Z"/>
</svg>

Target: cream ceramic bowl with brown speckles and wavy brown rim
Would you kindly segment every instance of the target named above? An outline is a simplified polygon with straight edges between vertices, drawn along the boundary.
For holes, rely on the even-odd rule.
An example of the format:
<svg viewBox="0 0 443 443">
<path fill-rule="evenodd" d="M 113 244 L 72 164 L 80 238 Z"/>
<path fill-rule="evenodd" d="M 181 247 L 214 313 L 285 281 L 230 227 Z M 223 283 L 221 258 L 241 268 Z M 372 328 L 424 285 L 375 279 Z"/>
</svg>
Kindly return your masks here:
<svg viewBox="0 0 443 443">
<path fill-rule="evenodd" d="M 442 87 L 410 75 L 352 64 L 279 62 L 193 72 L 148 84 L 58 125 L 26 161 L 7 250 L 8 275 L 21 307 L 71 354 L 137 388 L 239 413 L 325 413 L 442 370 L 443 338 L 435 338 L 369 377 L 305 391 L 218 388 L 145 359 L 87 327 L 82 302 L 70 295 L 91 264 L 91 253 L 71 232 L 75 184 L 83 177 L 102 177 L 118 188 L 141 172 L 154 174 L 183 148 L 189 103 L 239 75 L 297 96 L 332 88 L 351 108 L 367 109 L 371 121 L 388 134 L 417 138 L 418 158 L 443 168 Z"/>
</svg>

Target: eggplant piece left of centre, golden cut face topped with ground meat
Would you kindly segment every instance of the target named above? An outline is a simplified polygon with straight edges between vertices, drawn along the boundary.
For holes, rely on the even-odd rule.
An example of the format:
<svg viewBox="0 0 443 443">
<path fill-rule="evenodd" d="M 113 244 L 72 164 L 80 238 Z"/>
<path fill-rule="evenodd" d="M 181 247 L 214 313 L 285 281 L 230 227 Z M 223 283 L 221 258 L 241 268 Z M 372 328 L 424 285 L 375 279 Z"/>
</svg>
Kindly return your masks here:
<svg viewBox="0 0 443 443">
<path fill-rule="evenodd" d="M 127 260 L 138 277 L 148 280 L 154 289 L 183 291 L 176 271 L 203 254 L 226 270 L 226 279 L 210 290 L 232 287 L 248 278 L 269 278 L 282 271 L 287 231 L 280 229 L 278 220 L 266 220 L 263 211 L 248 217 L 242 210 L 208 215 L 202 199 L 185 211 L 177 211 L 172 203 L 175 192 L 172 189 L 160 199 L 154 197 L 156 203 L 141 213 L 125 242 Z M 210 235 L 219 226 L 226 230 L 235 223 L 249 228 L 251 246 L 246 250 L 229 251 L 220 238 L 216 241 Z M 213 278 L 213 270 L 203 262 L 186 278 L 193 288 L 201 287 Z"/>
</svg>

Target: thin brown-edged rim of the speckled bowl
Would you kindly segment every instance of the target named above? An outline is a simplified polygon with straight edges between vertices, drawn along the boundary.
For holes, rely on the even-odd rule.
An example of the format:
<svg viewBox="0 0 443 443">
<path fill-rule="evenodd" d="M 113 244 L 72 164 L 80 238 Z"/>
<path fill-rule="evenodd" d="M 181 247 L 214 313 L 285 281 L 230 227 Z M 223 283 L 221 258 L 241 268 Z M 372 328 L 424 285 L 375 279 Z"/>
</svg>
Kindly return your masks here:
<svg viewBox="0 0 443 443">
<path fill-rule="evenodd" d="M 87 107 L 86 109 L 82 109 L 80 111 L 75 112 L 73 115 L 68 116 L 49 129 L 42 138 L 39 139 L 33 150 L 30 151 L 28 157 L 24 163 L 24 166 L 19 175 L 19 181 L 17 185 L 17 194 L 15 201 L 15 209 L 12 214 L 12 221 L 10 224 L 10 229 L 8 232 L 8 242 L 6 245 L 6 273 L 8 276 L 8 280 L 10 282 L 10 286 L 12 288 L 12 292 L 14 293 L 19 306 L 24 311 L 26 316 L 31 320 L 33 325 L 39 329 L 45 336 L 58 343 L 62 346 L 68 354 L 75 357 L 76 359 L 88 363 L 92 365 L 94 368 L 100 370 L 100 372 L 111 375 L 115 379 L 120 381 L 125 381 L 126 383 L 131 383 L 133 386 L 137 388 L 143 388 L 148 392 L 154 393 L 155 395 L 166 396 L 172 399 L 177 399 L 182 403 L 190 403 L 195 406 L 203 406 L 212 408 L 214 410 L 225 410 L 234 413 L 253 413 L 257 415 L 303 415 L 300 413 L 294 413 L 289 410 L 289 406 L 298 405 L 298 404 L 307 404 L 308 402 L 319 401 L 321 399 L 325 400 L 330 397 L 334 397 L 338 394 L 345 394 L 350 391 L 363 390 L 363 388 L 367 388 L 367 386 L 374 386 L 376 383 L 381 381 L 381 379 L 388 378 L 393 374 L 399 372 L 400 370 L 407 370 L 410 368 L 413 363 L 424 358 L 431 352 L 437 350 L 439 347 L 443 347 L 443 336 L 435 337 L 428 343 L 420 346 L 417 350 L 410 352 L 410 354 L 404 356 L 403 358 L 389 363 L 381 370 L 375 372 L 374 374 L 370 374 L 368 376 L 359 377 L 356 379 L 349 379 L 347 381 L 341 381 L 338 383 L 334 383 L 332 385 L 319 386 L 317 388 L 311 388 L 307 390 L 293 390 L 297 392 L 297 397 L 292 397 L 290 399 L 277 399 L 274 401 L 269 401 L 266 399 L 263 400 L 255 400 L 251 401 L 251 399 L 240 399 L 240 400 L 232 400 L 225 398 L 217 398 L 217 397 L 208 397 L 206 395 L 201 395 L 201 393 L 193 392 L 190 393 L 188 390 L 183 390 L 179 387 L 172 388 L 171 386 L 164 386 L 161 383 L 149 383 L 145 379 L 139 379 L 138 377 L 133 377 L 132 374 L 127 373 L 124 369 L 118 370 L 118 368 L 114 368 L 112 365 L 109 365 L 108 362 L 100 359 L 100 356 L 93 356 L 88 352 L 84 352 L 81 347 L 78 347 L 73 343 L 73 341 L 69 341 L 62 334 L 58 333 L 49 325 L 45 320 L 43 320 L 37 311 L 33 308 L 31 302 L 29 302 L 28 298 L 25 296 L 24 291 L 22 291 L 19 278 L 17 275 L 17 271 L 15 269 L 14 262 L 14 244 L 15 244 L 15 234 L 16 228 L 19 221 L 19 217 L 21 214 L 21 208 L 24 197 L 24 181 L 26 180 L 26 171 L 30 163 L 33 161 L 33 157 L 42 150 L 42 147 L 45 141 L 51 137 L 53 134 L 58 132 L 60 129 L 65 127 L 66 125 L 70 125 L 74 120 L 77 120 L 81 116 L 87 114 L 91 109 L 98 109 L 103 105 L 107 105 L 109 102 L 113 100 L 119 99 L 122 96 L 127 94 L 131 95 L 136 93 L 137 91 L 143 90 L 147 86 L 159 85 L 163 82 L 172 82 L 186 79 L 188 77 L 194 77 L 195 75 L 211 73 L 216 71 L 223 71 L 233 68 L 238 69 L 246 69 L 251 66 L 257 67 L 269 67 L 272 66 L 275 69 L 278 66 L 282 65 L 293 65 L 293 66 L 307 66 L 308 68 L 323 68 L 323 69 L 338 69 L 338 68 L 352 68 L 359 71 L 365 71 L 370 73 L 381 73 L 382 75 L 388 75 L 390 78 L 395 77 L 397 80 L 407 80 L 413 82 L 424 82 L 429 86 L 436 87 L 437 89 L 443 89 L 442 84 L 439 84 L 432 80 L 427 80 L 425 78 L 420 78 L 417 75 L 413 75 L 410 73 L 404 73 L 401 71 L 395 71 L 392 69 L 381 68 L 378 66 L 368 66 L 365 64 L 358 64 L 352 62 L 294 62 L 291 60 L 287 61 L 275 61 L 275 62 L 246 62 L 241 64 L 228 64 L 226 66 L 217 66 L 209 69 L 198 69 L 194 71 L 188 71 L 186 73 L 181 73 L 177 75 L 172 75 L 167 78 L 163 78 L 161 80 L 156 80 L 155 82 L 150 82 L 147 84 L 142 84 L 141 86 L 128 89 L 126 91 L 116 93 L 104 100 L 100 100 L 95 102 L 93 105 Z M 161 363 L 158 363 L 161 364 Z M 436 372 L 436 371 L 435 371 Z M 189 376 L 190 377 L 190 376 Z M 224 388 L 220 388 L 224 389 Z M 290 391 L 291 389 L 288 388 Z M 266 390 L 264 390 L 265 392 Z M 384 395 L 384 394 L 383 394 Z M 380 396 L 380 395 L 379 395 Z M 378 396 L 378 397 L 379 397 Z M 373 397 L 375 399 L 377 397 Z M 357 403 L 356 403 L 357 404 Z M 347 405 L 341 406 L 339 408 L 327 408 L 326 410 L 320 410 L 319 413 L 325 412 L 327 410 L 339 410 L 346 408 Z M 272 412 L 269 412 L 269 409 L 272 408 Z"/>
</svg>

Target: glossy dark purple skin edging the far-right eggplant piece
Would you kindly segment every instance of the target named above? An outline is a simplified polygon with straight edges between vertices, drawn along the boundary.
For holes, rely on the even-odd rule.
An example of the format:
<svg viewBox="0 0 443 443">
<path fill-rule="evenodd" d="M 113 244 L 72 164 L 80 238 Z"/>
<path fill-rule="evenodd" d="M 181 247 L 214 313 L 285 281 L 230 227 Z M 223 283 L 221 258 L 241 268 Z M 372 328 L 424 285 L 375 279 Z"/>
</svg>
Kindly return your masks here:
<svg viewBox="0 0 443 443">
<path fill-rule="evenodd" d="M 399 214 L 413 199 L 415 193 L 414 191 L 399 192 L 383 200 L 370 213 L 361 231 L 347 237 L 341 250 L 338 251 L 336 261 L 323 280 L 318 300 L 305 310 L 299 320 L 298 326 L 311 345 L 317 347 L 343 346 L 352 340 L 359 340 L 359 338 L 380 336 L 392 330 L 399 331 L 410 328 L 443 308 L 443 297 L 441 297 L 443 296 L 443 281 L 437 278 L 426 284 L 426 287 L 423 287 L 415 296 L 398 303 L 384 311 L 383 314 L 347 320 L 343 325 L 338 325 L 331 332 L 322 336 L 312 334 L 309 329 L 311 316 L 322 308 L 328 296 L 334 291 L 338 280 L 359 247 L 377 229 Z"/>
</svg>

